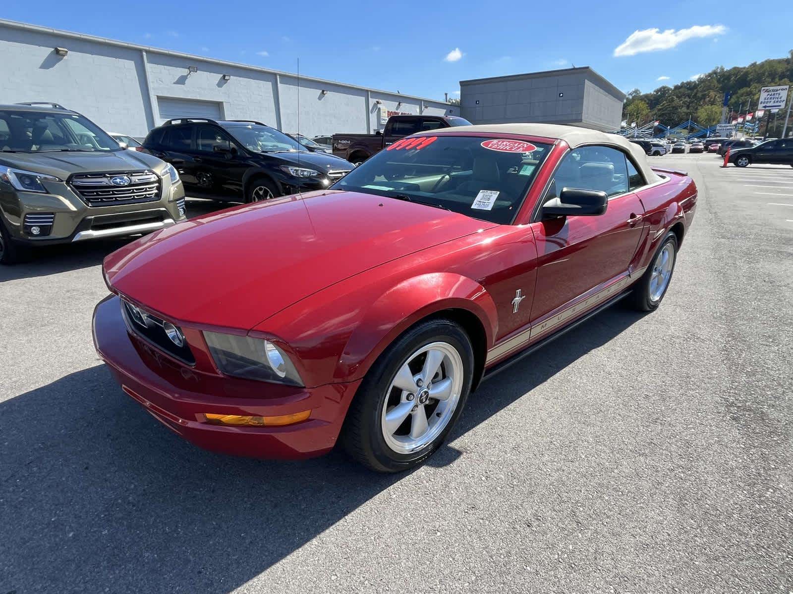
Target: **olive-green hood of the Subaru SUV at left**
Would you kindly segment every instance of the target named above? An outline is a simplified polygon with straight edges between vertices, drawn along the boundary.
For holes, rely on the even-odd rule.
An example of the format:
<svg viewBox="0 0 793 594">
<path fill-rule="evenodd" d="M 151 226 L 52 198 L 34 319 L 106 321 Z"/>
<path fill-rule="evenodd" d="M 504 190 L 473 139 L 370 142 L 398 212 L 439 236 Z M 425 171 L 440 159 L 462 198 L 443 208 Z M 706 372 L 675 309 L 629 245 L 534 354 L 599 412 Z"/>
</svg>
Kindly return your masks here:
<svg viewBox="0 0 793 594">
<path fill-rule="evenodd" d="M 72 173 L 102 173 L 105 171 L 130 171 L 133 169 L 152 169 L 163 173 L 165 163 L 154 155 L 137 150 L 100 151 L 58 151 L 39 153 L 0 153 L 0 163 L 27 169 L 36 173 L 54 175 L 65 180 Z"/>
</svg>

